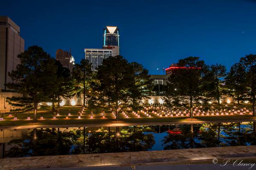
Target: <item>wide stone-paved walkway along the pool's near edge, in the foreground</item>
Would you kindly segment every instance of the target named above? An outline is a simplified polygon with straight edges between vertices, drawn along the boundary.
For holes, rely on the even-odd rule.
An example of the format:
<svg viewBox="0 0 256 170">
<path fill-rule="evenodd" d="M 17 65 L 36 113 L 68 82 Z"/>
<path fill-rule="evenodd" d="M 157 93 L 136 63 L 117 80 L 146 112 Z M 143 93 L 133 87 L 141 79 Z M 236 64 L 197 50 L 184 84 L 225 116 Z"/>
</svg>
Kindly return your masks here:
<svg viewBox="0 0 256 170">
<path fill-rule="evenodd" d="M 0 159 L 1 170 L 16 170 L 30 168 L 59 168 L 59 167 L 91 167 L 91 166 L 121 166 L 188 164 L 189 162 L 212 161 L 243 157 L 254 158 L 256 146 L 210 147 L 200 149 L 143 151 L 126 153 L 81 154 L 66 156 L 38 156 L 25 158 Z"/>
</svg>

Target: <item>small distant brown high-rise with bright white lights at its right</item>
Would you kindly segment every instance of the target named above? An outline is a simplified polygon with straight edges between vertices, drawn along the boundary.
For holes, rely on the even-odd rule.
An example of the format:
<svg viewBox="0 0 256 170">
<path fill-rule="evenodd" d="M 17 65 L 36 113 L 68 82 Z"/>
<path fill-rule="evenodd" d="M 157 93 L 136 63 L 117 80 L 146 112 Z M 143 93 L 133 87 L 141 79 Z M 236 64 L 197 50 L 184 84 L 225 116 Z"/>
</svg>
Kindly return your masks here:
<svg viewBox="0 0 256 170">
<path fill-rule="evenodd" d="M 70 72 L 72 72 L 75 65 L 75 59 L 71 55 L 71 50 L 68 52 L 58 49 L 56 51 L 56 60 L 59 60 L 63 67 L 68 68 Z"/>
</svg>

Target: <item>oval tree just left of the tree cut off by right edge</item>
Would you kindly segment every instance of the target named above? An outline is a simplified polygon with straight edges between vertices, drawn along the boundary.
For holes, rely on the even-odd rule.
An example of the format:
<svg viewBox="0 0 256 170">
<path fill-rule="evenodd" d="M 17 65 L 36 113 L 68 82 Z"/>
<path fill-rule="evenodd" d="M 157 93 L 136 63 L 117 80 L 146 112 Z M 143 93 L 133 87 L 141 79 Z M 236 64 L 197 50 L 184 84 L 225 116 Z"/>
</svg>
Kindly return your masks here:
<svg viewBox="0 0 256 170">
<path fill-rule="evenodd" d="M 227 94 L 233 100 L 239 102 L 243 100 L 246 94 L 246 71 L 241 63 L 235 63 L 230 68 L 230 72 L 225 78 L 225 85 L 227 87 Z"/>
</svg>

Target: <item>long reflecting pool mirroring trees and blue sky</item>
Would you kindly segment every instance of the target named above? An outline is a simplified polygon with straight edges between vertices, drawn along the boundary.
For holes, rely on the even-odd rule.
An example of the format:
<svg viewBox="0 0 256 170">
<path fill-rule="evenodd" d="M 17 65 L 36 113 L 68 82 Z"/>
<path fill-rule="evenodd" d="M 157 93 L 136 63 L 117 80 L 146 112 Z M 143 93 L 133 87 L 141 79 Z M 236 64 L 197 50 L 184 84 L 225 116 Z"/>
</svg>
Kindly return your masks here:
<svg viewBox="0 0 256 170">
<path fill-rule="evenodd" d="M 0 130 L 0 158 L 256 144 L 256 122 Z"/>
</svg>

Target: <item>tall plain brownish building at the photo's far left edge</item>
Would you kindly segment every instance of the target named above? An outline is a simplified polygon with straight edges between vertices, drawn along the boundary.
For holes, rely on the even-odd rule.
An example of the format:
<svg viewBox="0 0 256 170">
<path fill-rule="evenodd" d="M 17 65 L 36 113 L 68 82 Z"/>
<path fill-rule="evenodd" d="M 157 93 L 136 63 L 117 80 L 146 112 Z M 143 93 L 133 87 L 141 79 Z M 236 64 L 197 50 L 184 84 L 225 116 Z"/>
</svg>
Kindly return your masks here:
<svg viewBox="0 0 256 170">
<path fill-rule="evenodd" d="M 6 90 L 6 83 L 12 82 L 8 72 L 21 63 L 17 57 L 24 52 L 24 39 L 20 27 L 9 17 L 0 16 L 0 90 Z"/>
</svg>

